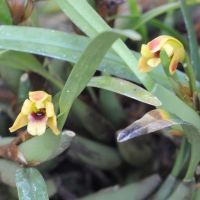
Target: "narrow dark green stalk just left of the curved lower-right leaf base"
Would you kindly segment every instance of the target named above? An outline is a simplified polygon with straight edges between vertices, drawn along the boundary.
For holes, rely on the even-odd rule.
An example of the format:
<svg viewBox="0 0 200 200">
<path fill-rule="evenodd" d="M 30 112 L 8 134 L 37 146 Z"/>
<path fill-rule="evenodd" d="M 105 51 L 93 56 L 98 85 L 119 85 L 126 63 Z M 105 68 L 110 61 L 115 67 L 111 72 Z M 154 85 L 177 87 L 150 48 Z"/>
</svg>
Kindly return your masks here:
<svg viewBox="0 0 200 200">
<path fill-rule="evenodd" d="M 176 158 L 176 162 L 174 164 L 174 167 L 172 169 L 171 175 L 174 177 L 177 177 L 179 172 L 181 171 L 181 168 L 183 167 L 184 163 L 189 158 L 190 154 L 190 144 L 187 141 L 186 137 L 183 137 L 183 141 L 181 144 L 180 151 L 178 153 L 178 156 Z"/>
</svg>

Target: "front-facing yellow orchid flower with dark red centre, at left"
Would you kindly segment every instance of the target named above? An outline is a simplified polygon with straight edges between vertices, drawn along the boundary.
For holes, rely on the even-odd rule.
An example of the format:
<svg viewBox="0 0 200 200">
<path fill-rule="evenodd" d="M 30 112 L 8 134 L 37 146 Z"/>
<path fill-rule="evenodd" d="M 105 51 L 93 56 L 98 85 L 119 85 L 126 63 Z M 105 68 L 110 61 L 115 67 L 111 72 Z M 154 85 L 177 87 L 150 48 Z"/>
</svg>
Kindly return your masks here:
<svg viewBox="0 0 200 200">
<path fill-rule="evenodd" d="M 24 101 L 21 112 L 17 116 L 10 132 L 27 126 L 27 131 L 31 135 L 42 135 L 48 125 L 55 135 L 60 131 L 57 129 L 54 106 L 51 102 L 51 95 L 43 91 L 29 92 L 29 99 Z"/>
</svg>

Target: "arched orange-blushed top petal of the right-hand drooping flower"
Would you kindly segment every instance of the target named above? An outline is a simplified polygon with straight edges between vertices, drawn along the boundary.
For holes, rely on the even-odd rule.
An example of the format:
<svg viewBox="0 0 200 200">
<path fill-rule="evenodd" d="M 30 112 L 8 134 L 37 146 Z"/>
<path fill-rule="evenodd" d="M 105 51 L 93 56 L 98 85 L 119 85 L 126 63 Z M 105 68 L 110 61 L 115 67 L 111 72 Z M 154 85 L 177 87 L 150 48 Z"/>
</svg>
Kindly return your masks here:
<svg viewBox="0 0 200 200">
<path fill-rule="evenodd" d="M 155 38 L 154 40 L 152 40 L 151 42 L 149 42 L 147 44 L 149 50 L 152 53 L 155 53 L 156 51 L 161 50 L 162 46 L 168 41 L 168 40 L 172 40 L 177 42 L 182 48 L 183 45 L 181 44 L 181 42 L 179 42 L 177 39 L 175 39 L 174 37 L 168 36 L 168 35 L 161 35 L 157 38 Z"/>
</svg>

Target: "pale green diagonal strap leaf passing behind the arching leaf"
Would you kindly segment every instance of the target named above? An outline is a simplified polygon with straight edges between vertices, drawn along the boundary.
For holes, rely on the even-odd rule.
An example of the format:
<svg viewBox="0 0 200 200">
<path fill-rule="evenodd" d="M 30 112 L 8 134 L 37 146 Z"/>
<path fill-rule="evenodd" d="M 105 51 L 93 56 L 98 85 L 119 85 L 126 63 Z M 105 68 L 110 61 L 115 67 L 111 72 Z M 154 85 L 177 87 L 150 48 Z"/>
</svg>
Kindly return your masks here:
<svg viewBox="0 0 200 200">
<path fill-rule="evenodd" d="M 91 6 L 82 0 L 54 0 L 63 12 L 88 36 L 94 37 L 98 33 L 110 30 L 106 22 L 91 8 Z M 112 49 L 124 60 L 130 70 L 140 79 L 142 84 L 152 90 L 155 86 L 153 80 L 147 75 L 137 70 L 137 60 L 131 54 L 130 50 L 121 41 L 117 40 Z"/>
</svg>

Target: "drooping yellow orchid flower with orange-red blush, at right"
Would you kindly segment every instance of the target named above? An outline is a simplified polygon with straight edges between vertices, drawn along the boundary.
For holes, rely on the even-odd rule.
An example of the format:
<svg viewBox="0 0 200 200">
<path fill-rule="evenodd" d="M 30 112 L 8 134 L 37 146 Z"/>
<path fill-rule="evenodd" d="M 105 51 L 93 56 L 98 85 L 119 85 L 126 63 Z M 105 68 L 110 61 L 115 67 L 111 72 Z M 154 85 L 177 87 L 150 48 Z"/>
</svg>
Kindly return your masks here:
<svg viewBox="0 0 200 200">
<path fill-rule="evenodd" d="M 161 62 L 159 54 L 163 49 L 171 59 L 169 72 L 174 74 L 178 63 L 185 58 L 185 50 L 181 42 L 168 35 L 159 36 L 147 45 L 142 45 L 138 71 L 146 73 L 157 67 Z"/>
</svg>

